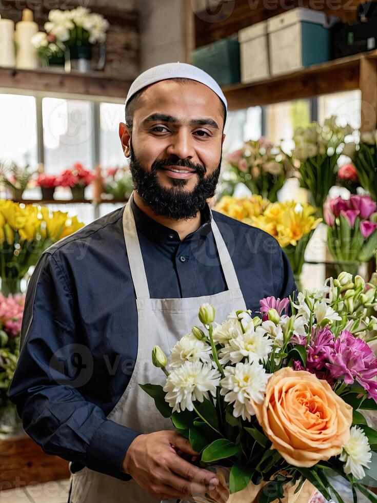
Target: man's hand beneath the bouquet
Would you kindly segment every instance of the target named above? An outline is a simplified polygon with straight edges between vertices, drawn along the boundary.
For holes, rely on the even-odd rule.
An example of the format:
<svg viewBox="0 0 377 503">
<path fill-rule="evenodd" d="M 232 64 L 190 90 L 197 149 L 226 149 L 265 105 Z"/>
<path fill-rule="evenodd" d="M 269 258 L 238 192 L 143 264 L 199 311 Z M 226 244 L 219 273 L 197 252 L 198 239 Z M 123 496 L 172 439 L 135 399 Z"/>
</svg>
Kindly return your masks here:
<svg viewBox="0 0 377 503">
<path fill-rule="evenodd" d="M 123 471 L 156 499 L 172 499 L 204 494 L 219 479 L 185 461 L 177 451 L 197 456 L 190 442 L 174 431 L 138 435 L 123 460 Z"/>
</svg>

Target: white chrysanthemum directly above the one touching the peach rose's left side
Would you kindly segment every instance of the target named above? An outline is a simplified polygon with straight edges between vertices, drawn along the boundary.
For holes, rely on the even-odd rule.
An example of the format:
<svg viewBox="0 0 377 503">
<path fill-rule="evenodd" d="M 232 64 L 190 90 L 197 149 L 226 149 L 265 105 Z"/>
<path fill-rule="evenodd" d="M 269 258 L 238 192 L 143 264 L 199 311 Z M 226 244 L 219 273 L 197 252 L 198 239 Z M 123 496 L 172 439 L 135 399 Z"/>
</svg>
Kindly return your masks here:
<svg viewBox="0 0 377 503">
<path fill-rule="evenodd" d="M 260 326 L 254 330 L 254 325 L 251 323 L 245 334 L 231 339 L 220 350 L 220 363 L 237 363 L 244 358 L 248 358 L 249 362 L 260 361 L 267 358 L 272 346 L 273 340 L 265 336 L 265 330 Z"/>
</svg>

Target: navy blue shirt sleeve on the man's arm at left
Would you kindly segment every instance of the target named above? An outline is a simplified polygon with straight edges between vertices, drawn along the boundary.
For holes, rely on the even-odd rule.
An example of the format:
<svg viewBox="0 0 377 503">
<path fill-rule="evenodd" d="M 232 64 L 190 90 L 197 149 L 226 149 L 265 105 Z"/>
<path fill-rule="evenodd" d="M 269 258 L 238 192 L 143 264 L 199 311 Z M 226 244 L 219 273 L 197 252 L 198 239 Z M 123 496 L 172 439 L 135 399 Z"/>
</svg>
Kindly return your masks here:
<svg viewBox="0 0 377 503">
<path fill-rule="evenodd" d="M 85 372 L 90 372 L 85 365 L 89 350 L 80 334 L 80 317 L 65 276 L 46 252 L 28 286 L 10 399 L 25 432 L 47 454 L 128 480 L 123 458 L 140 433 L 107 419 L 80 393 Z"/>
</svg>

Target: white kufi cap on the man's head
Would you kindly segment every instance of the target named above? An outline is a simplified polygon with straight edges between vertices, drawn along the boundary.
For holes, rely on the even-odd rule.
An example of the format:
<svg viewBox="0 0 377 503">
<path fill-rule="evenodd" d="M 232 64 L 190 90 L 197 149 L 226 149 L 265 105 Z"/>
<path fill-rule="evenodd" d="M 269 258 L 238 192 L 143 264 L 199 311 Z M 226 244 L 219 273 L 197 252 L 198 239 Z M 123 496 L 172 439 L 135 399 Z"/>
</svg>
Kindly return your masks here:
<svg viewBox="0 0 377 503">
<path fill-rule="evenodd" d="M 228 104 L 221 87 L 217 82 L 205 71 L 196 66 L 187 63 L 165 63 L 164 65 L 154 66 L 145 72 L 141 73 L 131 84 L 126 98 L 126 105 L 134 94 L 150 84 L 164 81 L 166 79 L 191 79 L 196 82 L 201 82 L 205 86 L 212 89 L 219 96 L 227 109 Z"/>
</svg>

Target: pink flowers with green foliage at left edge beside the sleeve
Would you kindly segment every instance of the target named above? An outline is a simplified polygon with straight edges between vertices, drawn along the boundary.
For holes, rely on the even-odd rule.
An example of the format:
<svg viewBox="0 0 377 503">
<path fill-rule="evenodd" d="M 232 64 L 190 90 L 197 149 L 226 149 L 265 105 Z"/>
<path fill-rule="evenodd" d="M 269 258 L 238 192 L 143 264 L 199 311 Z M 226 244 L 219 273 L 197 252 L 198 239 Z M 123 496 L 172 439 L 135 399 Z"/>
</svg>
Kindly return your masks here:
<svg viewBox="0 0 377 503">
<path fill-rule="evenodd" d="M 19 424 L 15 406 L 8 398 L 10 381 L 19 355 L 19 334 L 25 296 L 0 294 L 0 435 L 12 432 Z"/>
</svg>

